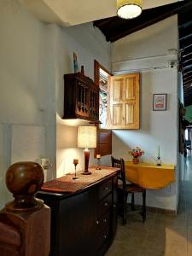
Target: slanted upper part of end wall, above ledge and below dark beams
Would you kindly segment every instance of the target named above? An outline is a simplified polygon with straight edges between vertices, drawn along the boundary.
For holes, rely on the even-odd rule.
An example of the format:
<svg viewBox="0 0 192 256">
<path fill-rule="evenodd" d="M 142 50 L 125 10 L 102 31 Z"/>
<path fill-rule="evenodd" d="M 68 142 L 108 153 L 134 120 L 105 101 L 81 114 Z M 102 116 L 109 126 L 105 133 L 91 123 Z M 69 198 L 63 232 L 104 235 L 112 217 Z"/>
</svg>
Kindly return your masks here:
<svg viewBox="0 0 192 256">
<path fill-rule="evenodd" d="M 177 15 L 116 41 L 112 62 L 167 55 L 168 50 L 177 49 L 176 36 Z"/>
</svg>

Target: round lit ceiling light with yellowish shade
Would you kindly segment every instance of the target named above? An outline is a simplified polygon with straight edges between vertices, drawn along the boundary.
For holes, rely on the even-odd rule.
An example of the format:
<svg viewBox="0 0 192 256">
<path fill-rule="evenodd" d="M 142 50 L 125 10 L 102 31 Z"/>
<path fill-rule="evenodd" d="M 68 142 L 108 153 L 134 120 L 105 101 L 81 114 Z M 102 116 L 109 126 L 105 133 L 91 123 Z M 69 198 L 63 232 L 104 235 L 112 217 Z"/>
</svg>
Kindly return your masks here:
<svg viewBox="0 0 192 256">
<path fill-rule="evenodd" d="M 117 0 L 117 15 L 123 19 L 133 19 L 141 15 L 143 0 Z"/>
</svg>

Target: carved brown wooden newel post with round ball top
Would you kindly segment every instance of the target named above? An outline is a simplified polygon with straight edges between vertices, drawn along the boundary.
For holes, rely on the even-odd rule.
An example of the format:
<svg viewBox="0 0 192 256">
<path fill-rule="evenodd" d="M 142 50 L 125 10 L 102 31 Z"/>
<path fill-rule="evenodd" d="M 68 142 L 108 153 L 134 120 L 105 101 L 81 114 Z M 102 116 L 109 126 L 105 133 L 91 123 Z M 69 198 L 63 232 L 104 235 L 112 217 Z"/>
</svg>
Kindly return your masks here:
<svg viewBox="0 0 192 256">
<path fill-rule="evenodd" d="M 0 211 L 1 256 L 48 256 L 50 209 L 35 198 L 44 183 L 44 170 L 35 162 L 18 162 L 6 173 L 15 200 Z"/>
</svg>

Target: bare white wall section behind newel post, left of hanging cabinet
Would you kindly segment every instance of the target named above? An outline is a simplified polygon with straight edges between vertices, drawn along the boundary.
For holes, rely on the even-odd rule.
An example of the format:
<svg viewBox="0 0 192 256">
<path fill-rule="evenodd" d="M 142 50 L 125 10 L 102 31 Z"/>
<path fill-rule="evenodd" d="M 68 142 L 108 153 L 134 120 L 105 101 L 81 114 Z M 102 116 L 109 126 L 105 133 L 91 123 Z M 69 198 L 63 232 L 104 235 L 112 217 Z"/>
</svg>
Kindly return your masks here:
<svg viewBox="0 0 192 256">
<path fill-rule="evenodd" d="M 3 206 L 10 195 L 4 187 L 10 164 L 42 156 L 55 161 L 56 120 L 55 86 L 50 83 L 52 67 L 49 68 L 47 58 L 47 26 L 27 13 L 17 0 L 0 1 L 0 22 L 0 179 L 3 183 L 0 203 Z M 15 133 L 14 127 L 22 129 Z M 37 129 L 43 132 L 38 133 Z"/>
</svg>

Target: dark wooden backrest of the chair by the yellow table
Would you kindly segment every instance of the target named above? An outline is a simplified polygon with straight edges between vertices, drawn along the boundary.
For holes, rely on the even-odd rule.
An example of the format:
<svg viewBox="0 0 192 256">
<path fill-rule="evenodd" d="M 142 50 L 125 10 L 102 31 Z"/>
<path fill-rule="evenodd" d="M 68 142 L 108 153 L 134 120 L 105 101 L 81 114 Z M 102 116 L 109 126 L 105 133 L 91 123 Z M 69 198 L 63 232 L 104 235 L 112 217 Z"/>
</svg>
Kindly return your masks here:
<svg viewBox="0 0 192 256">
<path fill-rule="evenodd" d="M 111 156 L 112 167 L 118 167 L 120 169 L 118 180 L 122 183 L 123 189 L 126 190 L 126 177 L 125 177 L 125 161 L 121 159 L 115 159 Z"/>
</svg>

